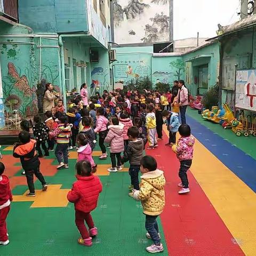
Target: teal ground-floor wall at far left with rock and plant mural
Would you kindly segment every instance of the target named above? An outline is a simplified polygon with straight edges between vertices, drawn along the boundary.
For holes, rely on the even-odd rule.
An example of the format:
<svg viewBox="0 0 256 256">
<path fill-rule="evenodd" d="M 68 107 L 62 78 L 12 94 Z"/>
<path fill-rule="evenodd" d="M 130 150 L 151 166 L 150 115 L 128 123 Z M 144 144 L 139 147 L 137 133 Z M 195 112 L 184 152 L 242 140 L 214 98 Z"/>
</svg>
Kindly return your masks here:
<svg viewBox="0 0 256 256">
<path fill-rule="evenodd" d="M 1 24 L 3 34 L 30 34 L 32 30 L 22 25 Z M 47 41 L 47 42 L 46 42 Z M 42 45 L 57 44 L 58 41 L 42 39 Z M 58 49 L 42 49 L 41 80 L 39 82 L 39 38 L 1 37 L 0 61 L 2 73 L 3 101 L 5 110 L 18 109 L 21 117 L 37 113 L 37 93 L 46 82 L 53 83 L 59 91 Z M 39 91 L 37 91 L 39 89 Z"/>
</svg>

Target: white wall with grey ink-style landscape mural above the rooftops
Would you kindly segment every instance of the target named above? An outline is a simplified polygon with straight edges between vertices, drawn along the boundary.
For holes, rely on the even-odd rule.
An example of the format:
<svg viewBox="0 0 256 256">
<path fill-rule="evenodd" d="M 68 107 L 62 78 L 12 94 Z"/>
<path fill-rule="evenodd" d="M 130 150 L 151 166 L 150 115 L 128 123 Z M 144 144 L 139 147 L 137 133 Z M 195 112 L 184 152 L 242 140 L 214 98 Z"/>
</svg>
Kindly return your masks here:
<svg viewBox="0 0 256 256">
<path fill-rule="evenodd" d="M 113 0 L 115 42 L 169 41 L 169 0 Z"/>
</svg>

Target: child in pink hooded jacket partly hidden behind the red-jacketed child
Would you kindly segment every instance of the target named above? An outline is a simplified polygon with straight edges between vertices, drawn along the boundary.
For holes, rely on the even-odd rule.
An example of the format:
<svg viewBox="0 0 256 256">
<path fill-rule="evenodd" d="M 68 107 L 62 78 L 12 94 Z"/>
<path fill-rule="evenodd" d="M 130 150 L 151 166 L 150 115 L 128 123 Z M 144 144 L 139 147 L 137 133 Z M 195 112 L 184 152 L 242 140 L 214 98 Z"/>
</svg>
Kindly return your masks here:
<svg viewBox="0 0 256 256">
<path fill-rule="evenodd" d="M 79 146 L 77 149 L 77 162 L 86 160 L 91 163 L 92 170 L 96 171 L 97 164 L 95 164 L 93 161 L 91 146 L 89 145 L 88 140 L 83 133 L 78 135 L 77 143 Z"/>
</svg>

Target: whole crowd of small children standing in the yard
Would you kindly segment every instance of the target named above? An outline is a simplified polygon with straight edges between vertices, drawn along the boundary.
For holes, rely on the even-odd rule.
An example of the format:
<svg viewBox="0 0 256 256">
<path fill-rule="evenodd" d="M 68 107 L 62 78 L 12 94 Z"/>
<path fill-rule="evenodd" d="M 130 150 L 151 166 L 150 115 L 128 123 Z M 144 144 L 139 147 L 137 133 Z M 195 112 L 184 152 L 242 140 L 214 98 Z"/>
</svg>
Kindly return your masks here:
<svg viewBox="0 0 256 256">
<path fill-rule="evenodd" d="M 68 193 L 68 200 L 75 203 L 76 226 L 82 238 L 78 243 L 86 246 L 92 245 L 92 237 L 98 234 L 94 226 L 91 211 L 97 207 L 98 197 L 102 191 L 99 178 L 93 173 L 97 170 L 92 151 L 97 139 L 101 149 L 99 159 L 106 159 L 107 149 L 110 147 L 111 167 L 109 172 L 122 170 L 125 162 L 129 161 L 129 174 L 131 185 L 129 196 L 141 201 L 143 213 L 146 215 L 146 229 L 148 238 L 153 239 L 153 245 L 147 247 L 151 253 L 162 252 L 158 233 L 157 217 L 164 209 L 164 185 L 165 178 L 162 171 L 157 170 L 156 160 L 151 156 L 143 157 L 143 150 L 148 141 L 147 149 L 158 147 L 158 141 L 163 139 L 163 117 L 166 119 L 169 141 L 172 150 L 177 154 L 180 161 L 179 177 L 181 188 L 179 194 L 188 193 L 187 171 L 192 163 L 194 137 L 190 134 L 187 124 L 180 125 L 175 99 L 171 101 L 170 92 L 159 93 L 147 92 L 139 94 L 138 91 L 121 91 L 109 93 L 103 92 L 91 97 L 88 106 L 84 106 L 78 96 L 69 101 L 69 108 L 65 114 L 62 101 L 58 102 L 58 108 L 46 111 L 45 121 L 39 116 L 34 117 L 33 134 L 31 139 L 29 124 L 22 121 L 22 131 L 19 134 L 19 142 L 15 143 L 13 156 L 19 157 L 27 178 L 29 193 L 27 196 L 35 196 L 33 175 L 42 183 L 42 190 L 47 190 L 47 183 L 39 170 L 39 157 L 49 156 L 49 151 L 54 150 L 59 162 L 57 169 L 68 169 L 69 150 L 77 149 L 77 181 Z M 176 144 L 176 133 L 181 137 Z M 47 147 L 46 147 L 47 142 Z M 38 151 L 38 154 L 37 152 Z M 141 171 L 141 182 L 139 182 Z M 2 175 L 4 166 L 0 164 L 0 186 L 4 183 L 6 193 L 0 198 L 0 213 L 5 209 L 4 217 L 10 210 L 12 200 L 8 179 Z M 5 201 L 2 202 L 1 200 Z M 3 207 L 3 208 L 2 208 Z M 1 214 L 0 214 L 1 215 Z M 87 231 L 84 220 L 89 227 Z M 0 244 L 9 243 L 4 231 L 0 228 Z M 1 242 L 2 241 L 2 242 Z"/>
</svg>

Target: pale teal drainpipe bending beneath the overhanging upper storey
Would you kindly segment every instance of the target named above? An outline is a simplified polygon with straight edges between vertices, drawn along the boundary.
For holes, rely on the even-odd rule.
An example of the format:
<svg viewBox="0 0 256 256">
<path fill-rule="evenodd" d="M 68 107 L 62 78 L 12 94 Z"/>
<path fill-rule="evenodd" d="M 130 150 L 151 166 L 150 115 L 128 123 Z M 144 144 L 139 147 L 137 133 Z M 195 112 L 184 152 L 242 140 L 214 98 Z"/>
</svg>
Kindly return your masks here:
<svg viewBox="0 0 256 256">
<path fill-rule="evenodd" d="M 61 91 L 63 95 L 63 105 L 67 106 L 67 95 L 66 95 L 66 83 L 65 83 L 65 60 L 64 60 L 64 44 L 63 44 L 63 37 L 88 37 L 91 36 L 90 32 L 85 32 L 84 34 L 61 34 L 59 35 L 58 42 L 60 46 L 60 64 L 61 68 L 59 70 L 59 74 L 61 77 Z"/>
</svg>

